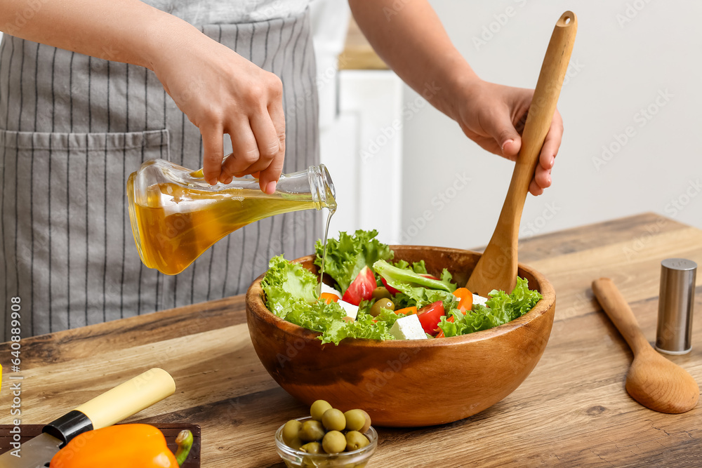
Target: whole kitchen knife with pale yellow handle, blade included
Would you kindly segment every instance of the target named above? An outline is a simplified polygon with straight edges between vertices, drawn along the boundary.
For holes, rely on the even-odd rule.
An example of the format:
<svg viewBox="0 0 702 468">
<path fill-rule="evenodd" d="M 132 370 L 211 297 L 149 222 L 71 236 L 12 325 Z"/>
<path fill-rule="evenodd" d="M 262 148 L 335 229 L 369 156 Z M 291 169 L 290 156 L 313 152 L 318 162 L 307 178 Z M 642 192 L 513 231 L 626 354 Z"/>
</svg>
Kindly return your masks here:
<svg viewBox="0 0 702 468">
<path fill-rule="evenodd" d="M 41 435 L 19 448 L 11 447 L 0 455 L 0 468 L 48 467 L 53 455 L 78 434 L 112 426 L 175 392 L 176 382 L 169 373 L 147 370 L 46 424 Z"/>
</svg>

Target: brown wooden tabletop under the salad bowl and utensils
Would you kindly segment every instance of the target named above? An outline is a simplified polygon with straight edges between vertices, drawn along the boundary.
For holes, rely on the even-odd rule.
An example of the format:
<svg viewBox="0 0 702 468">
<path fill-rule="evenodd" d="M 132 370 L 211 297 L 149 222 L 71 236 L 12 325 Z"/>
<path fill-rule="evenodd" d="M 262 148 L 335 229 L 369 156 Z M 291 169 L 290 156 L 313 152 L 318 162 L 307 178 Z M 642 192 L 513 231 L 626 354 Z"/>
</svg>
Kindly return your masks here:
<svg viewBox="0 0 702 468">
<path fill-rule="evenodd" d="M 660 262 L 702 264 L 702 231 L 645 214 L 525 239 L 520 260 L 557 291 L 555 323 L 534 372 L 500 403 L 466 420 L 419 429 L 380 428 L 371 467 L 673 467 L 702 464 L 702 413 L 664 415 L 624 389 L 632 354 L 592 298 L 614 279 L 644 334 L 655 339 Z M 697 276 L 702 284 L 702 274 Z M 694 345 L 670 359 L 702 382 L 702 286 Z M 0 423 L 11 422 L 8 344 Z M 192 422 L 202 429 L 203 467 L 279 467 L 273 434 L 307 408 L 267 375 L 253 352 L 244 297 L 87 326 L 22 342 L 22 422 L 40 423 L 152 366 L 178 389 L 132 420 Z M 460 398 L 461 383 L 456 382 Z M 440 405 L 441 396 L 428 405 Z"/>
</svg>

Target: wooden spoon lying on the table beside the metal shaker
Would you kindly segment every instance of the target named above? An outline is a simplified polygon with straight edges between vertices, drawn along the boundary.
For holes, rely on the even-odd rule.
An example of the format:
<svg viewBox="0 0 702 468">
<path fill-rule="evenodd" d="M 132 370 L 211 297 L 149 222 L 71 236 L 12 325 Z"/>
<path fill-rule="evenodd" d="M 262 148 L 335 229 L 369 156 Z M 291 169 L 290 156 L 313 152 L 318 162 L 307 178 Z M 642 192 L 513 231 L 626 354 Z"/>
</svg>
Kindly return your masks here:
<svg viewBox="0 0 702 468">
<path fill-rule="evenodd" d="M 634 361 L 626 375 L 626 391 L 631 397 L 660 413 L 684 413 L 694 408 L 700 393 L 697 382 L 651 347 L 612 280 L 592 281 L 592 291 L 634 352 Z"/>
</svg>

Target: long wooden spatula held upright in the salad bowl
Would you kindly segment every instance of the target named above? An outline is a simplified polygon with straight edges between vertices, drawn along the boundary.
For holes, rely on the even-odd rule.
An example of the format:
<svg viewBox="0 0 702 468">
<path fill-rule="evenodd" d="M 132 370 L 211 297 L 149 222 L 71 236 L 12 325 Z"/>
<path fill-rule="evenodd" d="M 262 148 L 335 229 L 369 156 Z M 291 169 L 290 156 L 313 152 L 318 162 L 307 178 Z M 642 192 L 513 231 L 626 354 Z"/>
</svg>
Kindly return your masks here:
<svg viewBox="0 0 702 468">
<path fill-rule="evenodd" d="M 517 285 L 519 221 L 522 220 L 524 201 L 529 192 L 529 183 L 534 178 L 543 140 L 556 110 L 577 29 L 578 19 L 571 11 L 563 13 L 553 29 L 524 123 L 522 149 L 515 163 L 500 218 L 490 243 L 465 286 L 472 293 L 486 296 L 493 289 L 510 293 Z"/>
</svg>

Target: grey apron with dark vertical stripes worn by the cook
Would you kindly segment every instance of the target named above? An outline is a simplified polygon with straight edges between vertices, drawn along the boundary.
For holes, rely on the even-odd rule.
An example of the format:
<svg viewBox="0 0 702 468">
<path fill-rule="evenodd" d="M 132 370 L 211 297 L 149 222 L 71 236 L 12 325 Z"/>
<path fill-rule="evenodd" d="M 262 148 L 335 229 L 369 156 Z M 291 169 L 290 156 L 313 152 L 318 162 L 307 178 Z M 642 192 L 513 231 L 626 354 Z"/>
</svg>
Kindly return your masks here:
<svg viewBox="0 0 702 468">
<path fill-rule="evenodd" d="M 308 14 L 200 29 L 282 79 L 284 173 L 319 163 Z M 0 341 L 10 337 L 13 297 L 22 336 L 39 335 L 244 293 L 273 255 L 312 251 L 319 213 L 303 211 L 239 229 L 176 276 L 148 269 L 125 190 L 154 158 L 202 165 L 199 130 L 153 72 L 4 35 Z"/>
</svg>

